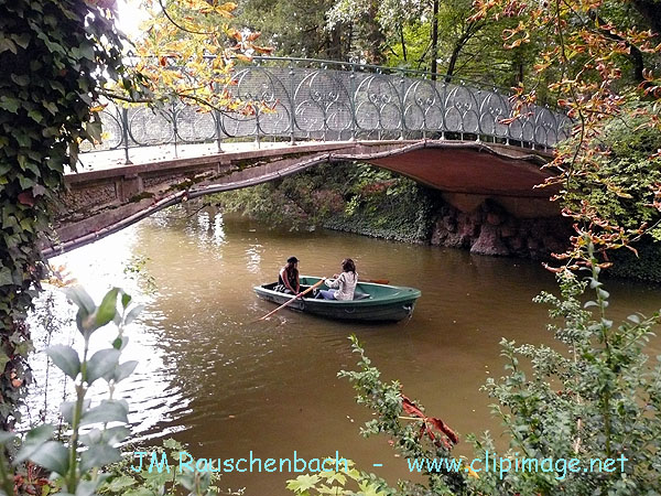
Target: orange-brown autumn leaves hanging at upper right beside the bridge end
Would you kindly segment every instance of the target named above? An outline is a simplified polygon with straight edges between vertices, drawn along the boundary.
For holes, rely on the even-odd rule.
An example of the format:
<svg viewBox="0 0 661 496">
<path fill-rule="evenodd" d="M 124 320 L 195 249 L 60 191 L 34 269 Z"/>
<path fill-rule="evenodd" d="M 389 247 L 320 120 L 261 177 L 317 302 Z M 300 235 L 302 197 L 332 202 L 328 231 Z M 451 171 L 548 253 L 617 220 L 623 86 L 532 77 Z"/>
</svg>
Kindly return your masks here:
<svg viewBox="0 0 661 496">
<path fill-rule="evenodd" d="M 642 2 L 640 2 L 642 3 Z M 531 39 L 545 46 L 534 71 L 539 80 L 553 80 L 549 89 L 557 106 L 573 119 L 571 139 L 555 150 L 548 168 L 557 172 L 545 185 L 560 186 L 554 200 L 565 201 L 563 215 L 575 219 L 577 235 L 573 248 L 560 255 L 567 266 L 581 265 L 588 240 L 604 259 L 604 251 L 630 244 L 649 227 L 641 223 L 624 227 L 608 218 L 599 205 L 584 198 L 566 202 L 567 195 L 581 188 L 598 190 L 603 197 L 619 201 L 635 193 L 621 187 L 617 174 L 603 173 L 611 161 L 607 127 L 620 121 L 631 132 L 652 129 L 661 133 L 659 107 L 661 87 L 653 66 L 661 54 L 659 33 L 637 12 L 638 2 L 619 0 L 476 0 L 473 20 L 512 18 L 513 29 L 502 33 L 506 48 L 529 43 Z M 642 10 L 642 8 L 641 8 Z M 538 99 L 539 86 L 516 88 L 512 119 L 528 114 Z M 644 104 L 644 105 L 641 105 Z M 650 154 L 649 168 L 661 166 L 661 150 Z M 658 209 L 653 198 L 660 196 L 661 184 L 646 192 L 649 208 Z"/>
</svg>

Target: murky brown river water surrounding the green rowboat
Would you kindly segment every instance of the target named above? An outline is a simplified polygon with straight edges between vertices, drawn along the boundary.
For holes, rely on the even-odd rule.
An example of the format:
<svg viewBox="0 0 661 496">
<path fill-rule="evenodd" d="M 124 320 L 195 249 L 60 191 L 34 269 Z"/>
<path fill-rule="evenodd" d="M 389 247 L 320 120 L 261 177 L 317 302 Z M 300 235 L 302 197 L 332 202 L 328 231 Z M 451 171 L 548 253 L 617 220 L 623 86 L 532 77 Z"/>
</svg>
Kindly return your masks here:
<svg viewBox="0 0 661 496">
<path fill-rule="evenodd" d="M 134 255 L 151 259 L 152 295 L 122 273 Z M 413 317 L 399 324 L 337 323 L 292 311 L 253 323 L 274 306 L 258 300 L 252 287 L 274 280 L 291 255 L 302 273 L 314 276 L 330 276 L 351 257 L 364 278 L 419 288 L 422 298 Z M 404 462 L 386 438 L 358 434 L 370 414 L 336 377 L 355 366 L 349 334 L 384 378 L 399 379 L 404 393 L 460 433 L 498 430 L 479 387 L 501 374 L 500 338 L 551 341 L 546 309 L 531 300 L 555 283 L 538 262 L 333 231 L 279 233 L 210 209 L 174 208 L 54 261 L 66 263 L 97 301 L 117 284 L 147 303 L 129 330 L 127 358 L 140 360 L 122 388 L 130 420 L 140 439 L 173 436 L 197 457 L 238 459 L 250 451 L 292 457 L 295 450 L 310 459 L 338 451 L 394 482 L 408 475 Z M 610 281 L 607 288 L 617 317 L 661 306 L 658 285 Z M 54 341 L 73 335 L 69 330 Z M 34 363 L 39 376 L 43 359 Z M 290 494 L 285 481 L 295 475 L 235 473 L 221 485 L 278 496 Z"/>
</svg>

